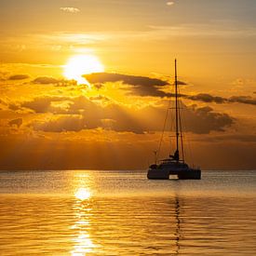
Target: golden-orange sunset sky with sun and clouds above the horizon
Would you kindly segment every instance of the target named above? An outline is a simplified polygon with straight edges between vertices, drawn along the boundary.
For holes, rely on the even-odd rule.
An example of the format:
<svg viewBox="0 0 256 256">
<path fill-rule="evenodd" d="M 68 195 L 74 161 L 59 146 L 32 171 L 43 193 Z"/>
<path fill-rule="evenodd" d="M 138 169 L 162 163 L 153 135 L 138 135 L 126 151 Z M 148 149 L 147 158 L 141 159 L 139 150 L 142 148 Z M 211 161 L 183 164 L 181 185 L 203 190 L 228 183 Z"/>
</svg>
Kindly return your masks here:
<svg viewBox="0 0 256 256">
<path fill-rule="evenodd" d="M 187 161 L 255 169 L 255 13 L 254 0 L 0 0 L 0 168 L 147 168 L 177 58 Z"/>
</svg>

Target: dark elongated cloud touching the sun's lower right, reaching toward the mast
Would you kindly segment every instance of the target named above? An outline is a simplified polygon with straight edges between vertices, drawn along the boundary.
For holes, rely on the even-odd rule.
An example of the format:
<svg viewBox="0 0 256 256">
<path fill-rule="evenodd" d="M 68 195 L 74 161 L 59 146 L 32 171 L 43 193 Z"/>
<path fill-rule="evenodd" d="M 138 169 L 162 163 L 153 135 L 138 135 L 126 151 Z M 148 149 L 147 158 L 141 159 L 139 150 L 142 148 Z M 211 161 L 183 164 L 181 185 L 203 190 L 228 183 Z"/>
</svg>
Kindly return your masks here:
<svg viewBox="0 0 256 256">
<path fill-rule="evenodd" d="M 99 85 L 106 82 L 123 82 L 124 84 L 130 86 L 129 88 L 125 88 L 129 91 L 129 94 L 139 95 L 141 97 L 152 96 L 163 98 L 173 96 L 172 94 L 161 90 L 161 88 L 165 88 L 169 84 L 167 81 L 158 78 L 111 73 L 85 74 L 84 76 L 89 83 L 94 85 Z"/>
</svg>

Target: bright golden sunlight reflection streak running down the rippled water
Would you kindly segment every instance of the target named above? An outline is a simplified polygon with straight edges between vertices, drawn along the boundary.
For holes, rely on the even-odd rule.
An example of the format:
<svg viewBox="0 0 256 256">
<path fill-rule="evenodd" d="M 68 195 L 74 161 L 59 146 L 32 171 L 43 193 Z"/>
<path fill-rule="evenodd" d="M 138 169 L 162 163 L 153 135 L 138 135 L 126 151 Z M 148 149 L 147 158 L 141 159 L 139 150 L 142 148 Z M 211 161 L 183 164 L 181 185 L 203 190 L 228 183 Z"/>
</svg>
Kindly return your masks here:
<svg viewBox="0 0 256 256">
<path fill-rule="evenodd" d="M 75 231 L 74 248 L 71 255 L 82 256 L 92 252 L 97 246 L 90 237 L 91 228 L 91 179 L 88 174 L 78 174 L 74 177 L 74 216 L 75 223 L 72 227 Z M 77 179 L 78 182 L 75 182 Z"/>
</svg>

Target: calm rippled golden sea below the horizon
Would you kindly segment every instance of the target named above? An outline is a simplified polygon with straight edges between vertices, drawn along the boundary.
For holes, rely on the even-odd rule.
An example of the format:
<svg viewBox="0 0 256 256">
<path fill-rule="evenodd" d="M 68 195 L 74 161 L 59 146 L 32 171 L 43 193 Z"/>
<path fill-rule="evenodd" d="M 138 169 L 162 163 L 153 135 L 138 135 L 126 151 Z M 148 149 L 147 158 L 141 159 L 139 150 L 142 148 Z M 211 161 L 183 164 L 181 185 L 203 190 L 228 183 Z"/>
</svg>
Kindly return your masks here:
<svg viewBox="0 0 256 256">
<path fill-rule="evenodd" d="M 0 172 L 0 255 L 256 255 L 256 171 Z"/>
</svg>

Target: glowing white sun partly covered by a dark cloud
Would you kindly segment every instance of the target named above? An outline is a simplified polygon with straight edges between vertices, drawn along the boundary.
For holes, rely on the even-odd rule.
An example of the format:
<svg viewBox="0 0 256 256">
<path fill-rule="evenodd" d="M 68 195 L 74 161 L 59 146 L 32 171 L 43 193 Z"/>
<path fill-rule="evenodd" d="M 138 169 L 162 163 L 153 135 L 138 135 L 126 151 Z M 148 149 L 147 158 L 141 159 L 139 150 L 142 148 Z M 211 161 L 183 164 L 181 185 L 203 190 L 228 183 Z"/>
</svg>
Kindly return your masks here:
<svg viewBox="0 0 256 256">
<path fill-rule="evenodd" d="M 104 67 L 101 61 L 94 55 L 75 55 L 69 59 L 64 66 L 64 76 L 67 79 L 74 79 L 78 85 L 88 84 L 83 74 L 101 73 Z"/>
</svg>

